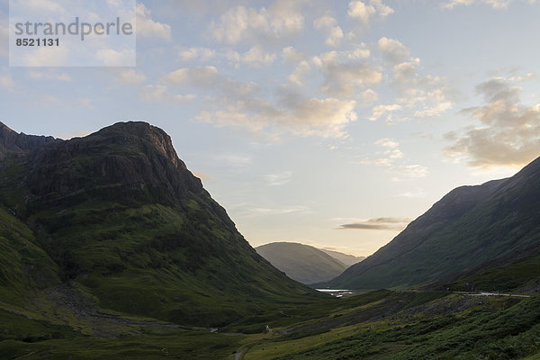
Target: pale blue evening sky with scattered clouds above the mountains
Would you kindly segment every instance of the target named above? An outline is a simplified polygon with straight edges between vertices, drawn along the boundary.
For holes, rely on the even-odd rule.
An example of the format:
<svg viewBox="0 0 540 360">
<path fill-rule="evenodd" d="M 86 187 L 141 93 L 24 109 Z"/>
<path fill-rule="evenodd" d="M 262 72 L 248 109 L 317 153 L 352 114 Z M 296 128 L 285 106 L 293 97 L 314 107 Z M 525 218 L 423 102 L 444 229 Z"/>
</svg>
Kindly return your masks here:
<svg viewBox="0 0 540 360">
<path fill-rule="evenodd" d="M 9 67 L 0 0 L 0 121 L 62 139 L 148 121 L 254 247 L 371 255 L 540 156 L 538 1 L 136 6 L 136 67 Z"/>
</svg>

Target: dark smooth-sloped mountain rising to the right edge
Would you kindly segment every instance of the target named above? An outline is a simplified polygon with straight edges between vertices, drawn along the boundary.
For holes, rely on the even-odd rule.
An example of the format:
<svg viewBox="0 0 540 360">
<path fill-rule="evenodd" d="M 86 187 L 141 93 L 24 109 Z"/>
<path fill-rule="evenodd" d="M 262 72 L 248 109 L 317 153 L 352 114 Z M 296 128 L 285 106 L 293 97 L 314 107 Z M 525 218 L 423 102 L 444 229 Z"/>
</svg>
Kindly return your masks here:
<svg viewBox="0 0 540 360">
<path fill-rule="evenodd" d="M 508 179 L 456 188 L 373 256 L 325 285 L 407 288 L 534 256 L 540 247 L 539 179 L 540 157 Z"/>
</svg>

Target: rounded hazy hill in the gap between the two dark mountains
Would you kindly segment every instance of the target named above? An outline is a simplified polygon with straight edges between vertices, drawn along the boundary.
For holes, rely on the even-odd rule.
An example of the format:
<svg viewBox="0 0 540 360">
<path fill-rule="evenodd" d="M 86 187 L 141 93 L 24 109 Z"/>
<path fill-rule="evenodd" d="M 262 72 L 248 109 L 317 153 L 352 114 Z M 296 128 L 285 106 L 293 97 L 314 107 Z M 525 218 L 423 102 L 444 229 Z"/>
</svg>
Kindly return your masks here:
<svg viewBox="0 0 540 360">
<path fill-rule="evenodd" d="M 273 266 L 302 284 L 328 281 L 347 268 L 338 259 L 309 245 L 274 242 L 255 249 Z"/>
</svg>

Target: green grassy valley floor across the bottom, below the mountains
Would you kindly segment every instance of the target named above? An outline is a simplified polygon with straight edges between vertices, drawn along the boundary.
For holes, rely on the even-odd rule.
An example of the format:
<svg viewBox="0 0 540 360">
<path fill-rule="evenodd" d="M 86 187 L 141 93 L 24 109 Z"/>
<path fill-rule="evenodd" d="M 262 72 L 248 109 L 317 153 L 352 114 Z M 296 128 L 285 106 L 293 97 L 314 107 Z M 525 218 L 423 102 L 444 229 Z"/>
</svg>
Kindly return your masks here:
<svg viewBox="0 0 540 360">
<path fill-rule="evenodd" d="M 24 308 L 0 304 L 0 358 L 540 358 L 535 294 L 377 291 L 285 306 L 211 332 L 80 305 L 70 291 L 49 289 Z"/>
</svg>

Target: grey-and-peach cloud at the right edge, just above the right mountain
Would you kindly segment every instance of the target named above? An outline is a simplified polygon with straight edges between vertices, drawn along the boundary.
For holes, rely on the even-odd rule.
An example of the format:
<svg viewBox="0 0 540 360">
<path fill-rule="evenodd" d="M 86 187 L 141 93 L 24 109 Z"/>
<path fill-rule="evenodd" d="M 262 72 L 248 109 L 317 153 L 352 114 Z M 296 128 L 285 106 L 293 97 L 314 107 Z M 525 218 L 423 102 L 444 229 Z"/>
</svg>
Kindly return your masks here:
<svg viewBox="0 0 540 360">
<path fill-rule="evenodd" d="M 446 155 L 469 166 L 524 166 L 540 155 L 540 105 L 521 103 L 518 79 L 494 77 L 476 87 L 484 105 L 464 109 L 472 129 L 450 134 Z"/>
</svg>

